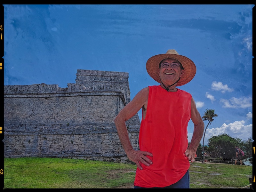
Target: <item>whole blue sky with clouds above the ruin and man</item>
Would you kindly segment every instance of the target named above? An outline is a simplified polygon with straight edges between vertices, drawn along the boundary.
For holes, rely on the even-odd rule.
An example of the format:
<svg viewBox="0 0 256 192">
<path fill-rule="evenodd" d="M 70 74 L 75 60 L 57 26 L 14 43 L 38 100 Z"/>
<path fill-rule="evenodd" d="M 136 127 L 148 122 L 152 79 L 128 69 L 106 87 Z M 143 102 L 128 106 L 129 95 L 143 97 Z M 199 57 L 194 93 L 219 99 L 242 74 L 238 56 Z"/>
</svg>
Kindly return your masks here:
<svg viewBox="0 0 256 192">
<path fill-rule="evenodd" d="M 221 133 L 252 138 L 253 7 L 4 4 L 4 85 L 64 88 L 75 83 L 77 69 L 120 71 L 129 73 L 133 99 L 158 85 L 147 60 L 175 49 L 197 68 L 178 88 L 192 94 L 201 116 L 209 108 L 218 114 L 205 143 Z M 190 121 L 189 141 L 193 128 Z"/>
</svg>

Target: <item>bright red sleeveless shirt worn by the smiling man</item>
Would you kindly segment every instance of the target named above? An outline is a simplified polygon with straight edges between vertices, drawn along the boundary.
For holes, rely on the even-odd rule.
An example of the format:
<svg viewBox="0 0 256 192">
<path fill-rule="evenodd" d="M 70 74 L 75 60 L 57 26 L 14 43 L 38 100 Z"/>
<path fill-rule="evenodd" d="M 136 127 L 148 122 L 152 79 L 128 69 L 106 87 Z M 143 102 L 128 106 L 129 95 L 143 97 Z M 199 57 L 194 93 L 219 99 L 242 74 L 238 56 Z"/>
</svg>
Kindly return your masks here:
<svg viewBox="0 0 256 192">
<path fill-rule="evenodd" d="M 178 89 L 167 92 L 160 85 L 149 86 L 146 117 L 140 125 L 139 146 L 148 151 L 153 164 L 137 168 L 134 185 L 166 187 L 179 181 L 190 163 L 185 156 L 188 148 L 187 126 L 191 117 L 191 94 Z"/>
</svg>

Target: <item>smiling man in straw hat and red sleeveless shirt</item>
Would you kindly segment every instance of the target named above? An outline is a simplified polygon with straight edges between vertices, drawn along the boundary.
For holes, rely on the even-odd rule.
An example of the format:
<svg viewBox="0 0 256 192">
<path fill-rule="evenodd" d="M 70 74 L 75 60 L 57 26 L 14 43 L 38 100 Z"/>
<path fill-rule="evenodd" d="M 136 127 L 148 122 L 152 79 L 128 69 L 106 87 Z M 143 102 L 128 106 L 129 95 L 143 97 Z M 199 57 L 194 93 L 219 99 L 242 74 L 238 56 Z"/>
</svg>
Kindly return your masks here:
<svg viewBox="0 0 256 192">
<path fill-rule="evenodd" d="M 137 165 L 134 188 L 189 188 L 189 160 L 195 161 L 204 122 L 191 94 L 176 86 L 191 81 L 196 74 L 196 66 L 189 58 L 168 50 L 165 54 L 149 58 L 146 68 L 160 85 L 143 88 L 115 118 L 124 151 Z M 135 150 L 125 121 L 141 108 L 140 150 Z M 190 119 L 194 132 L 188 146 Z"/>
</svg>

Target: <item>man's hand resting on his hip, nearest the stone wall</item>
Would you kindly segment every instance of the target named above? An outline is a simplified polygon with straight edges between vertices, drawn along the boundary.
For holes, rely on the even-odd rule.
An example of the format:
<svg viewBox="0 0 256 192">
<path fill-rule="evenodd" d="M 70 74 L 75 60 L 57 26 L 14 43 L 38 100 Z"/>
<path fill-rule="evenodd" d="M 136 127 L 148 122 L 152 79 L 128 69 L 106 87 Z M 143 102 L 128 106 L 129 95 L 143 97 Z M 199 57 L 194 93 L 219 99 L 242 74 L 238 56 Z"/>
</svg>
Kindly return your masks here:
<svg viewBox="0 0 256 192">
<path fill-rule="evenodd" d="M 149 166 L 150 164 L 153 164 L 153 162 L 147 157 L 147 155 L 148 156 L 153 156 L 153 154 L 149 153 L 148 151 L 140 151 L 140 150 L 131 149 L 126 154 L 127 154 L 127 157 L 131 161 L 133 161 L 140 170 L 142 170 L 140 162 L 143 163 L 146 166 Z"/>
</svg>

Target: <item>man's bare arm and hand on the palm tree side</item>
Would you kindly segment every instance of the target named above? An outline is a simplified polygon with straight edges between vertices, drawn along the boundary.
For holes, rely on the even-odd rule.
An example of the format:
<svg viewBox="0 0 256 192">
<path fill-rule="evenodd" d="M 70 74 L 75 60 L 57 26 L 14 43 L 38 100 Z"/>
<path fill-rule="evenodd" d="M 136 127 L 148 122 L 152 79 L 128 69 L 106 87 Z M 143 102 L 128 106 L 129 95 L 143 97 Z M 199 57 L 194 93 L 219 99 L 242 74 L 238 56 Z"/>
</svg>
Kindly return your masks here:
<svg viewBox="0 0 256 192">
<path fill-rule="evenodd" d="M 204 121 L 196 109 L 196 103 L 193 98 L 191 98 L 191 120 L 194 123 L 194 132 L 185 154 L 188 157 L 188 160 L 194 162 L 196 158 L 196 150 L 204 133 Z"/>
</svg>

